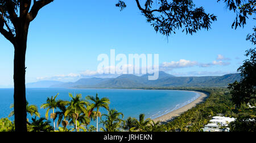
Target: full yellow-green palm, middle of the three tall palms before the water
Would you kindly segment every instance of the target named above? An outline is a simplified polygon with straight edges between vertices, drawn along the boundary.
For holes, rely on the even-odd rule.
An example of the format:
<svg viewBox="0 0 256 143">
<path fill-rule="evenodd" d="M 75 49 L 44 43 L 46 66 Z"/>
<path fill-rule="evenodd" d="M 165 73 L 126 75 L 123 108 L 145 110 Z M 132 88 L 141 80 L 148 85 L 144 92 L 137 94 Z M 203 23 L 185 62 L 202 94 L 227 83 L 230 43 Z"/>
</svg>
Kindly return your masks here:
<svg viewBox="0 0 256 143">
<path fill-rule="evenodd" d="M 69 93 L 69 97 L 71 97 L 71 102 L 68 103 L 67 111 L 65 111 L 64 115 L 67 116 L 69 113 L 72 113 L 73 119 L 75 119 L 76 132 L 77 132 L 77 119 L 79 118 L 79 113 L 86 114 L 86 106 L 87 102 L 82 100 L 82 95 L 77 94 L 75 97 Z"/>
</svg>

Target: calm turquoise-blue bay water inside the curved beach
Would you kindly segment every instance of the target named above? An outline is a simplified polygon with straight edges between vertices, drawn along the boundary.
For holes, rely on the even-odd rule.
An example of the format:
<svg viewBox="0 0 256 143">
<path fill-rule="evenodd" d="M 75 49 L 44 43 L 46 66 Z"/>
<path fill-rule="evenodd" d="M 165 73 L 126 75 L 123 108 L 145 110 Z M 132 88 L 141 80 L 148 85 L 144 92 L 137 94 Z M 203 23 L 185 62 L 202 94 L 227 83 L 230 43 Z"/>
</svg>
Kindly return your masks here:
<svg viewBox="0 0 256 143">
<path fill-rule="evenodd" d="M 0 118 L 8 117 L 13 110 L 13 89 L 0 89 Z M 100 98 L 110 99 L 110 108 L 115 108 L 127 117 L 136 117 L 144 113 L 145 117 L 154 119 L 177 108 L 183 107 L 193 100 L 199 98 L 200 94 L 191 91 L 176 90 L 126 90 L 126 89 L 27 89 L 26 96 L 30 104 L 39 107 L 40 115 L 44 117 L 46 110 L 40 109 L 40 105 L 46 102 L 47 97 L 55 96 L 57 99 L 69 100 L 68 93 L 82 94 L 85 99 L 87 95 L 96 95 Z M 101 112 L 106 113 L 105 110 Z M 29 118 L 29 115 L 28 115 Z M 13 120 L 13 117 L 10 117 Z"/>
</svg>

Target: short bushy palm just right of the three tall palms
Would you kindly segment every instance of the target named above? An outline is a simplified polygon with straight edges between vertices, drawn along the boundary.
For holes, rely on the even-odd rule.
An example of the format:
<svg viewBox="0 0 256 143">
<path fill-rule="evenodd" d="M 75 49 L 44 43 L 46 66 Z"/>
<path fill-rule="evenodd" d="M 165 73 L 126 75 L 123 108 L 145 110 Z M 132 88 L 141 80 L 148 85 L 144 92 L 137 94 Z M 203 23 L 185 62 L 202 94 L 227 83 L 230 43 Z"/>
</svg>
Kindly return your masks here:
<svg viewBox="0 0 256 143">
<path fill-rule="evenodd" d="M 118 132 L 118 128 L 121 127 L 121 123 L 123 122 L 123 113 L 117 112 L 117 110 L 109 110 L 109 113 L 106 115 L 102 115 L 106 117 L 105 121 L 101 121 L 105 127 L 101 128 L 101 131 L 104 132 Z M 122 116 L 122 119 L 120 119 Z"/>
</svg>

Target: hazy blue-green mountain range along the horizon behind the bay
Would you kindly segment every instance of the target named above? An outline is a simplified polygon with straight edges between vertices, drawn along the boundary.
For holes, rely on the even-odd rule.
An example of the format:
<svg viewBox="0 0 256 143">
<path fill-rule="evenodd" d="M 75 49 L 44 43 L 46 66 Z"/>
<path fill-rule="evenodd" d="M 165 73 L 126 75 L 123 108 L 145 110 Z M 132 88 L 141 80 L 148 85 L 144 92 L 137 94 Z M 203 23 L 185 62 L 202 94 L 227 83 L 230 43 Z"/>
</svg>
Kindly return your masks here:
<svg viewBox="0 0 256 143">
<path fill-rule="evenodd" d="M 148 75 L 123 74 L 117 78 L 82 78 L 76 82 L 40 81 L 27 83 L 27 88 L 138 88 L 138 87 L 181 87 L 181 86 L 228 86 L 240 81 L 240 74 L 205 77 L 175 77 L 159 72 L 159 79 L 148 81 Z"/>
</svg>

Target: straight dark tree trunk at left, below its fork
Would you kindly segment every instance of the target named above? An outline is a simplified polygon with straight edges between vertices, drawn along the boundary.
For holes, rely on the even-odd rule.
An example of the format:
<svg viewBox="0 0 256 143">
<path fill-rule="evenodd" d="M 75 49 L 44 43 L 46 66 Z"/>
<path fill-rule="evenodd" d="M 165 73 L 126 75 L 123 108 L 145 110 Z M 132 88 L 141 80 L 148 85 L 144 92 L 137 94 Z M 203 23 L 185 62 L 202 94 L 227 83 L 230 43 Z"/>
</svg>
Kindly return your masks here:
<svg viewBox="0 0 256 143">
<path fill-rule="evenodd" d="M 25 56 L 27 40 L 18 40 L 14 52 L 14 117 L 15 131 L 27 132 Z"/>
</svg>

